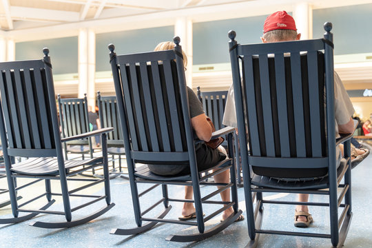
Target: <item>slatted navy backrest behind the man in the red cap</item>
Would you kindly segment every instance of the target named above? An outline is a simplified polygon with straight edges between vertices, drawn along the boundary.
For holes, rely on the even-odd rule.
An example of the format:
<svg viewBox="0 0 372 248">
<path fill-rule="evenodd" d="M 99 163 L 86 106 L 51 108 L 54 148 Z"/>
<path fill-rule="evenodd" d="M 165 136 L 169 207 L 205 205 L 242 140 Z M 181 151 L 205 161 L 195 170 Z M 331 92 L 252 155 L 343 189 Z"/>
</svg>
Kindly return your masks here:
<svg viewBox="0 0 372 248">
<path fill-rule="evenodd" d="M 240 109 L 247 110 L 249 164 L 256 174 L 286 178 L 327 174 L 328 145 L 333 143 L 335 149 L 335 127 L 334 121 L 327 125 L 325 118 L 328 108 L 327 119 L 334 120 L 333 105 L 329 104 L 333 91 L 324 94 L 327 74 L 332 82 L 326 87 L 333 87 L 333 59 L 327 67 L 322 52 L 326 45 L 324 39 L 316 39 L 237 45 L 233 49 L 234 92 L 238 90 L 236 94 L 245 98 Z M 328 134 L 333 135 L 326 135 L 326 125 Z"/>
</svg>

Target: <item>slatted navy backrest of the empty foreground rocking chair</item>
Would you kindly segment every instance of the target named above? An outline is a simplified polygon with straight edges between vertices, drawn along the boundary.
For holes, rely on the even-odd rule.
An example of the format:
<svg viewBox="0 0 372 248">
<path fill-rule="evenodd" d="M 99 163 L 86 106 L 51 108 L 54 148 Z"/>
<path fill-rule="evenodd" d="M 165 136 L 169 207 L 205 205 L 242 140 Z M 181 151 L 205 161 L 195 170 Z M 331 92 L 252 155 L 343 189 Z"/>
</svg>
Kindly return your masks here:
<svg viewBox="0 0 372 248">
<path fill-rule="evenodd" d="M 44 51 L 43 60 L 0 63 L 0 133 L 9 156 L 56 156 L 61 143 L 53 130 L 58 117 L 49 51 Z"/>
</svg>

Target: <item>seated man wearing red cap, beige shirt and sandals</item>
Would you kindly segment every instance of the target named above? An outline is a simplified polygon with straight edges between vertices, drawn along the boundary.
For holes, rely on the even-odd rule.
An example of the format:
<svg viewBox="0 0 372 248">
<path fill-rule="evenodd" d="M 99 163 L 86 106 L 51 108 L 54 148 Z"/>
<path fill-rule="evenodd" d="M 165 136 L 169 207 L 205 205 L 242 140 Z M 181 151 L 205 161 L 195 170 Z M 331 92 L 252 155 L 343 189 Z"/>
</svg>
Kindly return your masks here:
<svg viewBox="0 0 372 248">
<path fill-rule="evenodd" d="M 299 40 L 301 34 L 297 33 L 296 23 L 289 14 L 285 11 L 278 11 L 267 17 L 264 23 L 263 35 L 261 40 L 263 43 L 280 42 L 280 41 L 296 41 Z M 340 137 L 339 133 L 350 134 L 354 130 L 354 123 L 351 116 L 354 113 L 353 105 L 349 99 L 349 95 L 342 85 L 342 81 L 338 74 L 334 75 L 335 82 L 335 119 L 336 119 L 336 138 Z M 225 114 L 223 116 L 223 124 L 231 127 L 238 127 L 236 121 L 234 87 L 231 85 L 227 96 Z M 340 147 L 341 149 L 343 147 Z M 360 152 L 358 152 L 359 154 Z M 361 152 L 363 153 L 363 152 Z M 338 154 L 338 163 L 340 163 L 340 149 L 336 151 Z M 300 202 L 307 202 L 308 194 L 299 194 Z M 296 227 L 309 227 L 313 222 L 307 205 L 297 205 L 295 212 Z"/>
</svg>

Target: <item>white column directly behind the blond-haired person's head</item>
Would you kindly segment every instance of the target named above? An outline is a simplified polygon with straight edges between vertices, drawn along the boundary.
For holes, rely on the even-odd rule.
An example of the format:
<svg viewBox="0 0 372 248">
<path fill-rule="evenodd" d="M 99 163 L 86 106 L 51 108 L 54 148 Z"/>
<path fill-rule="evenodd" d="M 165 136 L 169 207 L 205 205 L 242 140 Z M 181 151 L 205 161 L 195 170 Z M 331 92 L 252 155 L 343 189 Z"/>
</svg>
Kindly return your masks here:
<svg viewBox="0 0 372 248">
<path fill-rule="evenodd" d="M 192 88 L 192 20 L 187 17 L 177 18 L 174 23 L 174 36 L 180 37 L 180 45 L 187 56 L 186 83 Z"/>
</svg>

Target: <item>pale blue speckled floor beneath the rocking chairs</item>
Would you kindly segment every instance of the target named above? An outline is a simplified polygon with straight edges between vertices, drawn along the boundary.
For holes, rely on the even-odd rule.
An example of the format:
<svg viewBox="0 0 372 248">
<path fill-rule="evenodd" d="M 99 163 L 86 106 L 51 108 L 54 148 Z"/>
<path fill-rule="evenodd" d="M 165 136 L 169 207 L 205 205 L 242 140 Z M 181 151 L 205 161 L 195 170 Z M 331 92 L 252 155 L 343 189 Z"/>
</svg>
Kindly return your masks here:
<svg viewBox="0 0 372 248">
<path fill-rule="evenodd" d="M 347 240 L 344 247 L 372 247 L 372 224 L 371 224 L 371 196 L 372 196 L 372 155 L 364 160 L 358 167 L 353 169 L 353 219 Z M 5 180 L 0 180 L 0 187 L 4 187 Z M 58 187 L 55 183 L 54 186 Z M 39 186 L 43 190 L 43 184 Z M 110 234 L 112 228 L 130 228 L 135 227 L 132 198 L 130 196 L 130 185 L 127 180 L 114 178 L 111 180 L 112 201 L 116 206 L 103 216 L 97 218 L 91 223 L 73 227 L 70 229 L 40 229 L 30 227 L 28 223 L 34 220 L 54 220 L 62 221 L 63 216 L 39 216 L 34 220 L 26 221 L 15 225 L 0 225 L 1 242 L 0 247 L 245 247 L 249 242 L 247 234 L 247 222 L 234 223 L 225 231 L 194 243 L 168 242 L 165 238 L 169 234 L 183 233 L 185 231 L 196 231 L 195 227 L 184 225 L 158 224 L 153 229 L 138 236 L 115 236 Z M 101 187 L 95 187 L 91 191 L 101 191 Z M 159 189 L 157 189 L 159 190 Z M 203 188 L 203 194 L 207 194 L 209 189 Z M 37 191 L 37 190 L 36 190 Z M 171 187 L 170 192 L 173 196 L 182 197 L 183 188 L 180 186 Z M 158 191 L 160 196 L 160 192 Z M 21 192 L 23 198 L 28 198 L 34 192 Z M 155 196 L 152 194 L 151 196 Z M 239 207 L 245 215 L 244 192 L 242 188 L 238 189 Z M 265 196 L 265 195 L 264 195 Z M 295 196 L 288 194 L 271 194 L 267 198 L 293 199 Z M 321 197 L 317 196 L 321 200 Z M 0 201 L 4 196 L 1 196 Z M 325 199 L 325 198 L 324 198 Z M 310 199 L 311 200 L 311 199 Z M 74 203 L 74 202 L 73 202 Z M 144 200 L 147 203 L 147 200 Z M 94 211 L 101 207 L 103 203 L 93 205 L 76 212 L 73 218 L 82 217 L 90 210 Z M 170 218 L 176 218 L 180 214 L 180 204 L 173 204 L 173 209 L 168 214 Z M 52 209 L 61 207 L 61 200 L 57 198 Z M 205 209 L 207 212 L 209 209 Z M 155 209 L 154 214 L 160 209 Z M 329 232 L 328 220 L 329 211 L 324 207 L 311 207 L 314 223 L 308 230 L 311 232 Z M 293 227 L 294 209 L 287 205 L 274 205 L 265 207 L 264 221 L 262 227 L 287 229 L 296 231 Z M 0 210 L 0 218 L 10 217 L 10 208 L 4 207 Z M 220 216 L 207 223 L 213 226 L 219 223 Z M 208 227 L 209 227 L 208 226 Z M 207 228 L 208 228 L 207 227 Z M 331 247 L 331 242 L 324 238 L 300 238 L 294 236 L 269 236 L 261 235 L 259 247 Z"/>
</svg>

